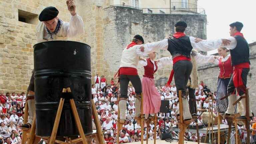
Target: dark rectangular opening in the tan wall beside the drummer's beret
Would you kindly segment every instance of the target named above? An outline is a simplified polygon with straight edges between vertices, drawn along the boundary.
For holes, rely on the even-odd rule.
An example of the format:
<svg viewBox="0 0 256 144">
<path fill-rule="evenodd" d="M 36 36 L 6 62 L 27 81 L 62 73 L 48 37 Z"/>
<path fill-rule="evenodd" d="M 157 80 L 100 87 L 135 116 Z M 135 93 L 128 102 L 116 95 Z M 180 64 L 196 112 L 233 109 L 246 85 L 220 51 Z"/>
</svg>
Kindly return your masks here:
<svg viewBox="0 0 256 144">
<path fill-rule="evenodd" d="M 37 24 L 38 15 L 33 14 L 27 11 L 18 10 L 19 21 L 29 23 L 29 24 Z"/>
</svg>

